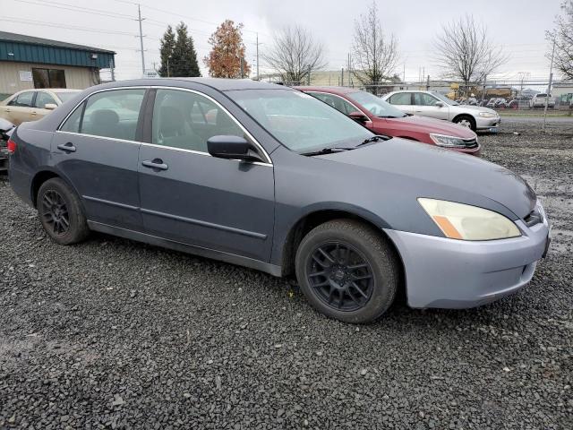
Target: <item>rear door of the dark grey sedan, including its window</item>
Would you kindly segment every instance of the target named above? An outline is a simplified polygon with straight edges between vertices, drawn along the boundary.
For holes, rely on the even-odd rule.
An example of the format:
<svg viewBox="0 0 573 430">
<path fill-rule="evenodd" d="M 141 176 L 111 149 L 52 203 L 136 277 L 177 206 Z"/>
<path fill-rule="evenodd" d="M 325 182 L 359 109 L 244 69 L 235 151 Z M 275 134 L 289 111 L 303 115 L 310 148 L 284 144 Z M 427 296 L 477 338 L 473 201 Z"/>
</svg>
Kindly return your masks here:
<svg viewBox="0 0 573 430">
<path fill-rule="evenodd" d="M 55 133 L 55 168 L 81 195 L 92 222 L 141 230 L 139 116 L 145 89 L 116 89 L 84 100 Z"/>
</svg>

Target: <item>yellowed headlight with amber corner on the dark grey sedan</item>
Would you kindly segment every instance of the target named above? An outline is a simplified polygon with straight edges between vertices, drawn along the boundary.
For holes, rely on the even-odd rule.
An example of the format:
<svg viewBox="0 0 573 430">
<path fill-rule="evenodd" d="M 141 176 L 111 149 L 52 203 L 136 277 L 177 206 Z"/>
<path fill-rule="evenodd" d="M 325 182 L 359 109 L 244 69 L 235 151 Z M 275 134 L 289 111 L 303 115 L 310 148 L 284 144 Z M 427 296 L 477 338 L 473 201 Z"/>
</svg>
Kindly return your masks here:
<svg viewBox="0 0 573 430">
<path fill-rule="evenodd" d="M 515 223 L 494 211 L 444 200 L 419 198 L 418 202 L 450 239 L 493 240 L 521 236 Z"/>
</svg>

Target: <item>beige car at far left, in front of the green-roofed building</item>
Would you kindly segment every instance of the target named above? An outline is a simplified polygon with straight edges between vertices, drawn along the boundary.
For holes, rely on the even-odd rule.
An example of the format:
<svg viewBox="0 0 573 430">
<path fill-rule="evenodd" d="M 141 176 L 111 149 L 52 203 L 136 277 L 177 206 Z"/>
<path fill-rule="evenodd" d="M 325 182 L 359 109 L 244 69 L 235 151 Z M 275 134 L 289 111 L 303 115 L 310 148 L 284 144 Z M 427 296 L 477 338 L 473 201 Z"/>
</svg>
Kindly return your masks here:
<svg viewBox="0 0 573 430">
<path fill-rule="evenodd" d="M 64 101 L 72 99 L 80 90 L 65 88 L 22 90 L 0 102 L 0 118 L 14 125 L 36 121 L 47 116 Z"/>
</svg>

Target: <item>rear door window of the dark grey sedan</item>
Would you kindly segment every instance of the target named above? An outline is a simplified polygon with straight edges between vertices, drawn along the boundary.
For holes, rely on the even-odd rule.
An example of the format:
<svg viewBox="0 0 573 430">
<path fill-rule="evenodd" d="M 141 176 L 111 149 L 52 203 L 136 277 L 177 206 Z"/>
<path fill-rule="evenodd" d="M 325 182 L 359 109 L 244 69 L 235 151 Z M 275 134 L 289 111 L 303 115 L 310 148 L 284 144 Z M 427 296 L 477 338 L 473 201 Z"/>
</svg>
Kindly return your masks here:
<svg viewBox="0 0 573 430">
<path fill-rule="evenodd" d="M 61 130 L 135 141 L 144 95 L 144 89 L 98 92 L 87 100 L 83 109 L 81 106 L 75 109 Z"/>
</svg>

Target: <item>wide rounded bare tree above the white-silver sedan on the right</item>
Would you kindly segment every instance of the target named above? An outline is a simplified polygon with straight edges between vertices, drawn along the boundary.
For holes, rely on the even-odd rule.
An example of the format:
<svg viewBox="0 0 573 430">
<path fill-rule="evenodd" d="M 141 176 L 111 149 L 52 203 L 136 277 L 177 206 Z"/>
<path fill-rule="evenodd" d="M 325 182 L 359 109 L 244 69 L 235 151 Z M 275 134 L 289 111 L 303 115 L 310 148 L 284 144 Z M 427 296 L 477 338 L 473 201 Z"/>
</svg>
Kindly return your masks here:
<svg viewBox="0 0 573 430">
<path fill-rule="evenodd" d="M 472 83 L 483 82 L 509 59 L 501 47 L 492 44 L 487 28 L 475 22 L 472 15 L 442 26 L 434 43 L 437 65 L 444 71 L 444 77 L 464 82 L 466 90 Z"/>
</svg>

